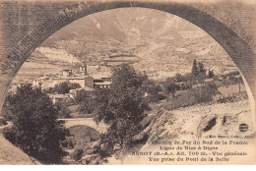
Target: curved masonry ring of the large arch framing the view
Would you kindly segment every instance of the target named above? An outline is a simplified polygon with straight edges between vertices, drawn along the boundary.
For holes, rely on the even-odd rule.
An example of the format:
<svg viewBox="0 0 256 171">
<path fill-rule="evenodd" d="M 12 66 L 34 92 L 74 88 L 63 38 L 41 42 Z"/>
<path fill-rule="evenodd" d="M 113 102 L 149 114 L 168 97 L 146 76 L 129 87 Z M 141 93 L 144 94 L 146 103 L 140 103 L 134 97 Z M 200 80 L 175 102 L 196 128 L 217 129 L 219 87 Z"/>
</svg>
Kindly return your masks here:
<svg viewBox="0 0 256 171">
<path fill-rule="evenodd" d="M 212 15 L 204 12 L 203 9 L 200 10 L 200 8 L 193 7 L 192 5 L 181 3 L 151 3 L 139 1 L 81 2 L 66 7 L 60 10 L 57 15 L 46 19 L 24 35 L 9 51 L 1 65 L 2 83 L 0 84 L 0 89 L 2 92 L 0 92 L 0 107 L 3 104 L 7 87 L 12 82 L 12 79 L 16 76 L 27 58 L 32 54 L 32 51 L 51 34 L 78 19 L 97 12 L 117 8 L 136 7 L 155 9 L 176 15 L 208 32 L 208 34 L 219 42 L 237 65 L 245 81 L 247 81 L 245 83 L 248 83 L 254 99 L 256 98 L 256 80 L 254 79 L 254 74 L 256 74 L 256 56 L 249 43 L 251 40 L 246 41 L 246 36 L 238 36 L 237 32 L 239 33 L 239 31 L 235 32 L 230 26 L 224 25 L 224 23 L 220 22 Z M 253 106 L 254 104 L 255 102 L 253 102 Z"/>
</svg>

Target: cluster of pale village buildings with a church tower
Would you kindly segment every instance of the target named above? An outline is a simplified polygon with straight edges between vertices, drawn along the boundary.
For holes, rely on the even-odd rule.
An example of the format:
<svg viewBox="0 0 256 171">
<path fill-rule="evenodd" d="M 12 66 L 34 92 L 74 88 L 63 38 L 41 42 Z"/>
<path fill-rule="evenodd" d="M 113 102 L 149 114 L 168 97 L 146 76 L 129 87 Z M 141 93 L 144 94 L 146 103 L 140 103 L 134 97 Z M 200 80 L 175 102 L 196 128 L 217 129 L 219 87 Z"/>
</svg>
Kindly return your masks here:
<svg viewBox="0 0 256 171">
<path fill-rule="evenodd" d="M 88 68 L 93 68 L 91 73 L 88 72 Z M 101 68 L 101 69 L 100 69 Z M 103 69 L 102 69 L 103 68 Z M 103 72 L 100 72 L 100 71 Z M 79 67 L 79 72 L 73 73 L 70 69 L 65 69 L 59 71 L 55 75 L 45 75 L 38 77 L 34 80 L 29 80 L 27 82 L 13 83 L 9 86 L 8 92 L 15 93 L 17 88 L 21 85 L 32 85 L 32 87 L 41 87 L 42 90 L 47 90 L 53 88 L 55 85 L 60 85 L 62 83 L 71 83 L 80 85 L 80 87 L 70 89 L 69 93 L 47 93 L 52 99 L 53 104 L 58 101 L 62 101 L 68 98 L 74 99 L 76 94 L 81 90 L 93 91 L 95 88 L 108 88 L 111 85 L 111 67 L 109 66 L 90 66 L 83 61 Z"/>
</svg>

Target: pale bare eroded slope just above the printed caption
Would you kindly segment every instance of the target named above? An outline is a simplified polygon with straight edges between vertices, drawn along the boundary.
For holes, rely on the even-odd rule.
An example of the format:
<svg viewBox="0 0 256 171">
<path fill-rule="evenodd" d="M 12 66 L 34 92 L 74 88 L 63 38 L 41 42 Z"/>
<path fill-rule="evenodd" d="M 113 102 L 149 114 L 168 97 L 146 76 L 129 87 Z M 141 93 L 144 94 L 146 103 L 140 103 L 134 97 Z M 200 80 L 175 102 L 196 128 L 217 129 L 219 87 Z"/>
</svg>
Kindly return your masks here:
<svg viewBox="0 0 256 171">
<path fill-rule="evenodd" d="M 148 142 L 180 138 L 184 140 L 186 137 L 201 139 L 209 135 L 226 134 L 243 137 L 253 134 L 251 118 L 250 104 L 245 99 L 232 103 L 198 104 L 171 111 L 162 109 L 162 113 L 148 127 L 150 130 L 146 129 L 145 132 L 150 132 Z M 216 119 L 216 124 L 210 130 L 204 131 L 212 119 Z M 239 131 L 238 126 L 241 123 L 249 126 L 248 132 Z"/>
</svg>

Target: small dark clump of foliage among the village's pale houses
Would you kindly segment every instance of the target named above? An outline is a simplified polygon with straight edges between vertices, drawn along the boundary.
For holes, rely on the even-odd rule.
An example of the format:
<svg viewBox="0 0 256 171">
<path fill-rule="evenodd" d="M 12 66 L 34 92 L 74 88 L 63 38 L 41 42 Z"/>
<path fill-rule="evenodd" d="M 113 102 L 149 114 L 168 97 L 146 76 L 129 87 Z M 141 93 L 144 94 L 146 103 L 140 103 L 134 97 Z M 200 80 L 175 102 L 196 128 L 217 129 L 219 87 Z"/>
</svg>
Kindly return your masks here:
<svg viewBox="0 0 256 171">
<path fill-rule="evenodd" d="M 61 84 L 55 85 L 54 87 L 50 87 L 50 88 L 46 89 L 45 91 L 47 93 L 57 92 L 58 94 L 65 94 L 65 93 L 69 93 L 70 89 L 76 89 L 78 87 L 81 87 L 81 85 L 72 84 L 69 82 L 63 82 Z"/>
</svg>

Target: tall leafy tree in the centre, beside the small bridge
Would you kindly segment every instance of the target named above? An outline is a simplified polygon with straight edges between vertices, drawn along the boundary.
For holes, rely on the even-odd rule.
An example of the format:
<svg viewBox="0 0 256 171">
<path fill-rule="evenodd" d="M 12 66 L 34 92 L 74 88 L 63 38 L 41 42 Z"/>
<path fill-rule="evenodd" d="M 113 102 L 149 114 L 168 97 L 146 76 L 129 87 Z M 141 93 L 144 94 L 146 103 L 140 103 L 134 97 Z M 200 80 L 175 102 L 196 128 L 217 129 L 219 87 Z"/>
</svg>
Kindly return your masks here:
<svg viewBox="0 0 256 171">
<path fill-rule="evenodd" d="M 143 95 L 141 78 L 127 64 L 113 70 L 110 88 L 96 90 L 95 120 L 109 125 L 100 144 L 104 151 L 115 153 L 122 160 L 145 117 Z"/>
</svg>

